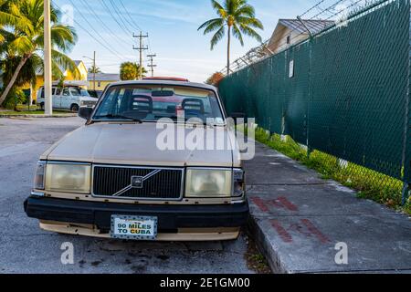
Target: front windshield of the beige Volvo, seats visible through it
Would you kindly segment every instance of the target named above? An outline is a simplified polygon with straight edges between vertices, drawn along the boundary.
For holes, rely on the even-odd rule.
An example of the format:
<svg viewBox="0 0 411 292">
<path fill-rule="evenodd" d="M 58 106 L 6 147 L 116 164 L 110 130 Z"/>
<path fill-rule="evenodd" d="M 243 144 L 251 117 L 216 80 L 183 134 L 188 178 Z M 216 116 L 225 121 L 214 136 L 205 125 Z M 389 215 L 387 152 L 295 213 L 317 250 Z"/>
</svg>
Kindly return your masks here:
<svg viewBox="0 0 411 292">
<path fill-rule="evenodd" d="M 224 123 L 212 90 L 167 85 L 112 87 L 93 116 L 93 120 L 157 121 L 162 118 Z"/>
</svg>

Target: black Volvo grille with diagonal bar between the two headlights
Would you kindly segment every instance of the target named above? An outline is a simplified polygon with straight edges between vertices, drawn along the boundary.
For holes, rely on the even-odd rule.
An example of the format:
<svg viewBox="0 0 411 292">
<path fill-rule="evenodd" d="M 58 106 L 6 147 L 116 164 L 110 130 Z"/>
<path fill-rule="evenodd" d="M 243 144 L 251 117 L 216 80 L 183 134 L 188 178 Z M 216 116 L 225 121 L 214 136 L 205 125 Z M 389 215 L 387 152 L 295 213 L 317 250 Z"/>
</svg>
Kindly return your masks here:
<svg viewBox="0 0 411 292">
<path fill-rule="evenodd" d="M 93 195 L 129 199 L 177 200 L 182 197 L 183 175 L 184 169 L 180 168 L 156 169 L 96 165 L 93 170 Z M 132 180 L 135 182 L 132 183 Z"/>
</svg>

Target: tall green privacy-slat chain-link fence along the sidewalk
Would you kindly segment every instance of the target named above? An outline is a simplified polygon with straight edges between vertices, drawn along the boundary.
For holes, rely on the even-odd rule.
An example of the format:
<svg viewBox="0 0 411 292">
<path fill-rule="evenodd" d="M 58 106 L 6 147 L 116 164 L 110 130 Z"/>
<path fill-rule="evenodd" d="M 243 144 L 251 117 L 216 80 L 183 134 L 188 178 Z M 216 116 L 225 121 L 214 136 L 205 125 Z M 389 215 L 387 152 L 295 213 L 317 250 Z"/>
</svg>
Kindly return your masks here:
<svg viewBox="0 0 411 292">
<path fill-rule="evenodd" d="M 228 113 L 411 183 L 409 60 L 410 1 L 379 1 L 347 26 L 231 74 L 219 90 Z"/>
</svg>

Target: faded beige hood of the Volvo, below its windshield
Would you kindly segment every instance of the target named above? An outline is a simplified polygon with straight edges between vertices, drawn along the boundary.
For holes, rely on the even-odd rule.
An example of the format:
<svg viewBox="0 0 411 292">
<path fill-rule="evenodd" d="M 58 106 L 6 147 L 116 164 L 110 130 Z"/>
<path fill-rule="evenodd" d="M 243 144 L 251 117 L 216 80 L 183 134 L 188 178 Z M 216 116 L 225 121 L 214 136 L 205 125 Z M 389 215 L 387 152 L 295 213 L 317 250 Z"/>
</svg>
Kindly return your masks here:
<svg viewBox="0 0 411 292">
<path fill-rule="evenodd" d="M 160 124 L 161 125 L 161 124 Z M 190 138 L 193 145 L 205 145 L 205 137 L 209 145 L 213 145 L 209 137 L 214 133 L 216 141 L 221 143 L 224 135 L 226 146 L 224 150 L 207 150 L 201 148 L 185 148 L 184 150 L 164 150 L 157 147 L 158 141 L 164 139 L 166 131 L 178 128 L 175 132 Z M 127 165 L 154 165 L 154 166 L 206 166 L 206 167 L 238 167 L 240 166 L 239 152 L 232 150 L 233 139 L 228 135 L 227 127 L 201 127 L 203 135 L 197 139 L 190 136 L 193 127 L 174 124 L 163 124 L 158 127 L 156 123 L 109 123 L 97 122 L 74 130 L 60 141 L 51 146 L 41 157 L 51 161 L 91 162 Z M 163 129 L 158 129 L 163 128 Z M 173 135 L 169 135 L 173 137 Z M 216 139 L 216 137 L 220 137 Z M 171 138 L 172 141 L 173 138 Z M 175 145 L 177 140 L 175 139 Z M 227 145 L 229 145 L 227 147 Z M 216 149 L 216 148 L 215 148 Z"/>
</svg>

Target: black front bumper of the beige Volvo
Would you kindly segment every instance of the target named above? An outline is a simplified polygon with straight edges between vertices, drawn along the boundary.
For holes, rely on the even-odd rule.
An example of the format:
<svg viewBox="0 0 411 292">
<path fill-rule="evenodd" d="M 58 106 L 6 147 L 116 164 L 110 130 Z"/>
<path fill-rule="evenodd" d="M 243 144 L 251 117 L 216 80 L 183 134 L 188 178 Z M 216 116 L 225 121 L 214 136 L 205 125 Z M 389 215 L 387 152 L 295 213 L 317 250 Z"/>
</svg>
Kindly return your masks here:
<svg viewBox="0 0 411 292">
<path fill-rule="evenodd" d="M 108 234 L 111 214 L 147 215 L 158 217 L 159 233 L 177 233 L 181 228 L 241 227 L 248 220 L 248 203 L 218 205 L 161 205 L 103 203 L 30 196 L 26 199 L 28 217 L 40 221 L 69 224 L 90 224 L 100 234 Z"/>
</svg>

